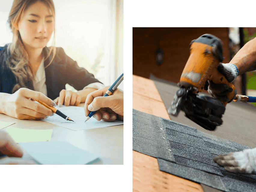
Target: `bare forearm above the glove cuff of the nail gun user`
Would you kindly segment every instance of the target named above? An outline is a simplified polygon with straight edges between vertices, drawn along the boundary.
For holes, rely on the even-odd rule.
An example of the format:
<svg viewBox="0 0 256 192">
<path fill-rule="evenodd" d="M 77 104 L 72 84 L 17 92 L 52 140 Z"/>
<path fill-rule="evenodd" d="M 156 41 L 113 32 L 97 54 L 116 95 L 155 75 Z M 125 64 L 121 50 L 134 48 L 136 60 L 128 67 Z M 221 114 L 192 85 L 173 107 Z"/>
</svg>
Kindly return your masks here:
<svg viewBox="0 0 256 192">
<path fill-rule="evenodd" d="M 230 63 L 236 65 L 238 75 L 256 70 L 256 38 L 246 43 L 242 49 L 236 53 Z"/>
</svg>

